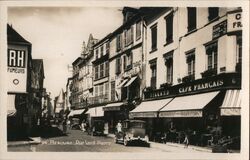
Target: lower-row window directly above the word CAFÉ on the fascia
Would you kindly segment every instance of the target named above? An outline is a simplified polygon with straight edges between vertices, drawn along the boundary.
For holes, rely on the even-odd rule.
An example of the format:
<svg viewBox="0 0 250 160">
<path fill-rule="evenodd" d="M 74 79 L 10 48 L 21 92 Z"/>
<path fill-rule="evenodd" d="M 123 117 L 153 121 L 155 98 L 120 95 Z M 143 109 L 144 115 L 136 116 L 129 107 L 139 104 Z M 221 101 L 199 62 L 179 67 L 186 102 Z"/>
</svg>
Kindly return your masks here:
<svg viewBox="0 0 250 160">
<path fill-rule="evenodd" d="M 186 53 L 186 62 L 188 67 L 188 76 L 195 75 L 195 50 Z"/>
</svg>

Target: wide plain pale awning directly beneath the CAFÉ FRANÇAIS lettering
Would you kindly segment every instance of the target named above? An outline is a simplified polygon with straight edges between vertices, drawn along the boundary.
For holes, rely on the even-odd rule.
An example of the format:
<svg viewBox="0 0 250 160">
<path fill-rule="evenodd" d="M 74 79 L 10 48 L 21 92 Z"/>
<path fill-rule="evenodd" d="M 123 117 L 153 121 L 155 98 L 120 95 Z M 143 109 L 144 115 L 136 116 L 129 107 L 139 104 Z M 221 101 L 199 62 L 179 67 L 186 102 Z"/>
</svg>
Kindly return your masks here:
<svg viewBox="0 0 250 160">
<path fill-rule="evenodd" d="M 219 91 L 174 98 L 160 110 L 159 117 L 202 117 L 202 109 Z"/>
</svg>

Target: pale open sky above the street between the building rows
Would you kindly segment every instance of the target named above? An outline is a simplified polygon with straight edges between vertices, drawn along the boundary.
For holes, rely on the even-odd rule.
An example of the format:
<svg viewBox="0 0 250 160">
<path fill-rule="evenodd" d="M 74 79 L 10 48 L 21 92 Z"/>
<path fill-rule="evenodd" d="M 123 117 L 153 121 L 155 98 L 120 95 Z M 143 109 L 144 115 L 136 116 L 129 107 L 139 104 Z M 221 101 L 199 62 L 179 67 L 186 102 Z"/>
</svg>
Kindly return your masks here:
<svg viewBox="0 0 250 160">
<path fill-rule="evenodd" d="M 44 88 L 52 98 L 65 91 L 68 65 L 80 56 L 89 34 L 102 39 L 122 24 L 122 8 L 9 7 L 8 23 L 32 44 L 32 58 L 43 59 Z"/>
</svg>

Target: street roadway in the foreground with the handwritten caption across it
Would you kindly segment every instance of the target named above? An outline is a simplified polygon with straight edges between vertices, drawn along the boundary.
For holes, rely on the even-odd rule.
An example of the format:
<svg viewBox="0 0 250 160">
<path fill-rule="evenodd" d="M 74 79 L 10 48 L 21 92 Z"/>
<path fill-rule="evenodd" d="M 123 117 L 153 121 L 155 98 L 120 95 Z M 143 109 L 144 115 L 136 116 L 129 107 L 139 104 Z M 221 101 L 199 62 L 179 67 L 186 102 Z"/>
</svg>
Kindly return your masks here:
<svg viewBox="0 0 250 160">
<path fill-rule="evenodd" d="M 152 142 L 154 143 L 154 142 Z M 51 138 L 42 138 L 38 145 L 9 146 L 8 151 L 22 152 L 199 152 L 182 147 L 174 147 L 165 144 L 152 145 L 131 144 L 124 146 L 116 144 L 112 137 L 91 136 L 80 130 L 70 130 L 67 135 Z M 154 143 L 155 144 L 155 143 Z M 164 147 L 162 147 L 164 146 Z"/>
</svg>

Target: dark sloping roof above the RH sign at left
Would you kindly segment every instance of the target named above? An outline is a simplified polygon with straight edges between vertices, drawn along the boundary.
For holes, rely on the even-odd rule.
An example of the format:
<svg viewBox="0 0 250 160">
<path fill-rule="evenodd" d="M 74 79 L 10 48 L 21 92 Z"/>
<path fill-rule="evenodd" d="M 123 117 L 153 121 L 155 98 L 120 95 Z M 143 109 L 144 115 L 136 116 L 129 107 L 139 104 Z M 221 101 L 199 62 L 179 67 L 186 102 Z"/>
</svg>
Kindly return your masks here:
<svg viewBox="0 0 250 160">
<path fill-rule="evenodd" d="M 19 43 L 31 45 L 29 41 L 24 39 L 12 26 L 7 24 L 7 41 L 8 43 Z"/>
</svg>

